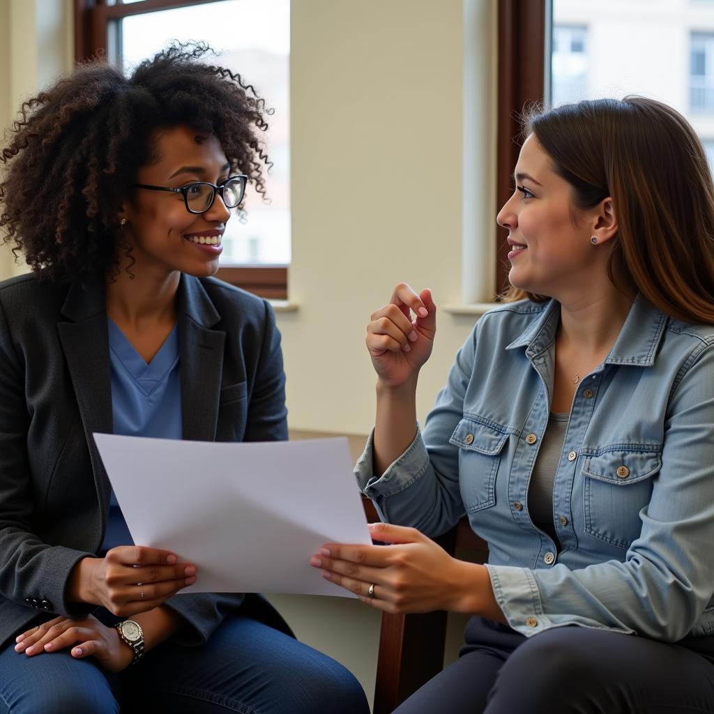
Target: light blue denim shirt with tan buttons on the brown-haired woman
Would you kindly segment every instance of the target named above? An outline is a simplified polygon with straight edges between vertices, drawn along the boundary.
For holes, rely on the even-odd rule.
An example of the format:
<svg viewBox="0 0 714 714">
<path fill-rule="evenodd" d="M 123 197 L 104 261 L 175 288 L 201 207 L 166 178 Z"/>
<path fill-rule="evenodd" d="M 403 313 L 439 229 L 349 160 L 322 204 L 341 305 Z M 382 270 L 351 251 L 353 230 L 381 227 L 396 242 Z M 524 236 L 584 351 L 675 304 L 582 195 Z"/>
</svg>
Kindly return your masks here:
<svg viewBox="0 0 714 714">
<path fill-rule="evenodd" d="M 466 514 L 489 546 L 498 605 L 533 635 L 560 625 L 676 641 L 714 634 L 714 326 L 641 296 L 578 384 L 553 486 L 553 540 L 528 482 L 548 424 L 556 301 L 486 313 L 411 446 L 378 478 L 383 520 L 427 535 Z"/>
</svg>

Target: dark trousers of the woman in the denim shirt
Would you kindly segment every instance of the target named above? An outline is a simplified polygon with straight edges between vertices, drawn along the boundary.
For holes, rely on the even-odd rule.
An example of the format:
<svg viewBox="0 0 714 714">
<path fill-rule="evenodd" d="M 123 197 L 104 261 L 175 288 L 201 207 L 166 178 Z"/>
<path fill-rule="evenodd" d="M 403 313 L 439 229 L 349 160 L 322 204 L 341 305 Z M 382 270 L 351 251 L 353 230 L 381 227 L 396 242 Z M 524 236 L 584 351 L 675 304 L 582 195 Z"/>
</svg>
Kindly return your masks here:
<svg viewBox="0 0 714 714">
<path fill-rule="evenodd" d="M 713 714 L 714 658 L 690 643 L 705 641 L 575 626 L 525 638 L 472 618 L 459 659 L 395 714 Z"/>
</svg>

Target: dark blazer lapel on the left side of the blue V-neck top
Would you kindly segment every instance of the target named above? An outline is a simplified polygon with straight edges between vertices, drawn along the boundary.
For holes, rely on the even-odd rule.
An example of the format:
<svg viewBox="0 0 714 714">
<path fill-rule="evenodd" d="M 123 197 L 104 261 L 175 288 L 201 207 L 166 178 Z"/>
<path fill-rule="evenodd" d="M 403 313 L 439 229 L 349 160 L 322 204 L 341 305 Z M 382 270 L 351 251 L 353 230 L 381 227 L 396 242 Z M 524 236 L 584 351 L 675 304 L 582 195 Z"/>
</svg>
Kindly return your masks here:
<svg viewBox="0 0 714 714">
<path fill-rule="evenodd" d="M 83 288 L 74 283 L 69 288 L 61 314 L 69 321 L 59 322 L 57 331 L 89 446 L 101 508 L 100 532 L 104 533 L 111 486 L 92 436 L 94 432 L 111 433 L 113 430 L 104 284 L 96 281 Z"/>
</svg>

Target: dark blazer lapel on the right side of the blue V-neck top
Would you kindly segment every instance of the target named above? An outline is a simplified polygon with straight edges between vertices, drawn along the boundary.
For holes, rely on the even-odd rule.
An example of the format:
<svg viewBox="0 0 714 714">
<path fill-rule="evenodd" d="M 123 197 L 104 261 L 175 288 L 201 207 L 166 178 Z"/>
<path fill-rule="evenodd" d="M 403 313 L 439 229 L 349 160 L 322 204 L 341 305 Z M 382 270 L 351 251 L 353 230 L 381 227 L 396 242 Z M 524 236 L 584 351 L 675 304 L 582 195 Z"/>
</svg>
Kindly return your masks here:
<svg viewBox="0 0 714 714">
<path fill-rule="evenodd" d="M 211 330 L 221 316 L 198 278 L 178 286 L 183 438 L 215 441 L 226 333 Z"/>
</svg>

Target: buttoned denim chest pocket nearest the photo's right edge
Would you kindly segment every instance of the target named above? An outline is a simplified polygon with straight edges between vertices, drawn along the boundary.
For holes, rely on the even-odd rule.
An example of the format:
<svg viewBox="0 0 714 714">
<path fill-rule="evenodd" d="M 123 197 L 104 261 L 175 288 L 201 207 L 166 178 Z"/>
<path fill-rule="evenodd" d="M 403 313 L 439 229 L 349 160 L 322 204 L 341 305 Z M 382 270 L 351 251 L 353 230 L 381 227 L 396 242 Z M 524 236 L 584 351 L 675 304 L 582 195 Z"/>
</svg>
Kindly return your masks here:
<svg viewBox="0 0 714 714">
<path fill-rule="evenodd" d="M 585 458 L 587 533 L 619 548 L 630 547 L 642 530 L 640 510 L 650 502 L 661 456 L 661 451 L 613 449 Z"/>
</svg>

